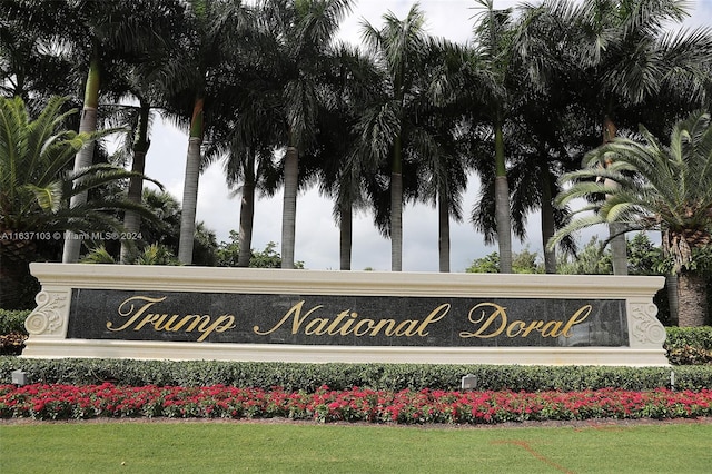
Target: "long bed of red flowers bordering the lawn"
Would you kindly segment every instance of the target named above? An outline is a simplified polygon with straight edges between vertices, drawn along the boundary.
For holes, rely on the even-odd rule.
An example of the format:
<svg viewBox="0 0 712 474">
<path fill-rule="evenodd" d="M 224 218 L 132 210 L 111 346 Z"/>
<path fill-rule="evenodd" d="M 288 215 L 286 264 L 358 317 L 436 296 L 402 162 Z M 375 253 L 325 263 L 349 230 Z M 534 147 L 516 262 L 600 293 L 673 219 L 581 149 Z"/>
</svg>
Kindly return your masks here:
<svg viewBox="0 0 712 474">
<path fill-rule="evenodd" d="M 712 416 L 712 391 L 665 388 L 631 392 L 372 391 L 353 387 L 315 393 L 281 388 L 128 387 L 102 385 L 0 385 L 0 417 L 271 418 L 317 422 L 495 424 L 590 418 Z"/>
</svg>

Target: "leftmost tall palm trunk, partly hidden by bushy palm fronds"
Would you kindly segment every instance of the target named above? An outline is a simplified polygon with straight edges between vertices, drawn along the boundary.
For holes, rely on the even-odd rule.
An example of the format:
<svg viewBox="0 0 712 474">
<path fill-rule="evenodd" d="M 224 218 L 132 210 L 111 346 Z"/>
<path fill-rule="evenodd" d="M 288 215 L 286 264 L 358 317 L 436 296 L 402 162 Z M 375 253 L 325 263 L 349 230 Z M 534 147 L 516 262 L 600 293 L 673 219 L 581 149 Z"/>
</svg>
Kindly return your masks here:
<svg viewBox="0 0 712 474">
<path fill-rule="evenodd" d="M 93 132 L 97 130 L 97 113 L 99 108 L 99 58 L 95 52 L 89 63 L 87 86 L 85 87 L 85 105 L 79 122 L 79 132 Z M 75 158 L 75 171 L 91 166 L 93 161 L 93 141 L 86 144 Z M 87 203 L 87 192 L 79 192 L 71 197 L 70 207 L 81 206 Z M 68 233 L 62 249 L 62 263 L 75 264 L 79 260 L 81 240 L 75 233 Z"/>
</svg>

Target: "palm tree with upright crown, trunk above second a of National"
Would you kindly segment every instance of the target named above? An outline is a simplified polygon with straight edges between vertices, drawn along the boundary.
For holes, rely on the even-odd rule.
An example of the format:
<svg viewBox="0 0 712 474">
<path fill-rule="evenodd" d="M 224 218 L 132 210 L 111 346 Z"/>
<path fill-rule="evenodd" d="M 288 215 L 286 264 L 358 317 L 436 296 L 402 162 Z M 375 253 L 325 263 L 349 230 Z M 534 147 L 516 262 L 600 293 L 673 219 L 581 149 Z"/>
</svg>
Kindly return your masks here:
<svg viewBox="0 0 712 474">
<path fill-rule="evenodd" d="M 363 115 L 359 130 L 363 146 L 376 162 L 389 162 L 389 234 L 390 269 L 403 269 L 403 171 L 404 156 L 409 130 L 408 121 L 414 118 L 413 98 L 417 97 L 418 75 L 427 50 L 425 16 L 415 3 L 404 20 L 392 12 L 383 17 L 384 26 L 376 29 L 370 23 L 363 24 L 366 47 L 375 56 L 384 71 L 386 82 L 379 101 L 373 103 Z"/>
</svg>

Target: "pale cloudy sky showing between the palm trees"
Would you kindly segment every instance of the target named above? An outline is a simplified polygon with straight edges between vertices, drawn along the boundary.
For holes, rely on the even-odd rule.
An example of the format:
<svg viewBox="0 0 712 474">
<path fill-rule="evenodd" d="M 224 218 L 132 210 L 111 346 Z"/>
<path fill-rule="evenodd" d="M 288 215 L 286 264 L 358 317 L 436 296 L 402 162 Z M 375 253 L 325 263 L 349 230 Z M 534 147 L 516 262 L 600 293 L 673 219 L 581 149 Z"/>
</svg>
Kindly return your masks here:
<svg viewBox="0 0 712 474">
<path fill-rule="evenodd" d="M 357 0 L 352 13 L 342 24 L 339 38 L 360 43 L 360 23 L 366 20 L 376 28 L 388 11 L 405 18 L 414 0 Z M 425 12 L 426 30 L 431 36 L 465 42 L 472 38 L 476 14 L 475 0 L 421 0 Z M 521 3 L 495 0 L 496 9 Z M 712 0 L 690 2 L 694 10 L 688 26 L 712 26 Z M 187 134 L 156 120 L 151 130 L 151 147 L 146 160 L 146 175 L 157 179 L 178 200 L 182 198 L 182 181 L 188 147 Z M 283 190 L 273 198 L 256 197 L 253 249 L 263 250 L 270 241 L 281 246 Z M 474 259 L 497 251 L 496 245 L 486 246 L 482 234 L 469 223 L 469 214 L 477 201 L 477 182 L 473 176 L 463 199 L 464 219 L 451 221 L 451 270 L 464 271 Z M 210 165 L 200 177 L 196 220 L 214 230 L 218 243 L 228 241 L 229 231 L 239 228 L 239 195 L 225 184 L 222 162 Z M 303 191 L 297 198 L 295 260 L 304 261 L 307 269 L 338 270 L 338 227 L 332 217 L 333 203 L 320 196 L 316 188 Z M 513 240 L 515 251 L 528 248 L 543 254 L 537 214 L 527 220 L 527 241 Z M 590 236 L 581 236 L 584 245 Z M 373 224 L 370 211 L 354 216 L 352 269 L 390 270 L 390 240 L 384 238 Z M 403 270 L 437 271 L 437 214 L 434 207 L 408 204 L 403 210 Z"/>
</svg>

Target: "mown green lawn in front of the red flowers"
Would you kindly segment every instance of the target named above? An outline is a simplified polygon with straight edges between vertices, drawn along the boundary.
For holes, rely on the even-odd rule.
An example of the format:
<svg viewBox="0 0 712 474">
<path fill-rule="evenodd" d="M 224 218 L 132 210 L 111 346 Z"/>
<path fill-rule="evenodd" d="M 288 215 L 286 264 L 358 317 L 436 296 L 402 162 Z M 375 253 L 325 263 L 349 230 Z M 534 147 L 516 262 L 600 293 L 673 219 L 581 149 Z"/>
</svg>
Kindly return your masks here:
<svg viewBox="0 0 712 474">
<path fill-rule="evenodd" d="M 10 473 L 703 473 L 712 424 L 443 428 L 281 423 L 0 425 Z"/>
</svg>

